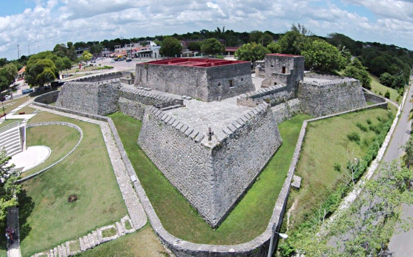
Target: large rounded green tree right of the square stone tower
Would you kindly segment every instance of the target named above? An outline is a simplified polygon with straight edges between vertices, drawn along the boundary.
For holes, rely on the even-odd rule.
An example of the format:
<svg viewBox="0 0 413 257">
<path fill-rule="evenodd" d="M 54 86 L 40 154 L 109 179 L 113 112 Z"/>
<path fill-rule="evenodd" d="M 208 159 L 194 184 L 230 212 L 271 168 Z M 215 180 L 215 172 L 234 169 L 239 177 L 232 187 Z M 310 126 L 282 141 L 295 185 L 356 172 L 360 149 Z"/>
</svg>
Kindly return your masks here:
<svg viewBox="0 0 413 257">
<path fill-rule="evenodd" d="M 346 65 L 346 59 L 338 49 L 322 39 L 313 40 L 301 54 L 304 55 L 305 65 L 318 71 L 332 72 Z"/>
</svg>

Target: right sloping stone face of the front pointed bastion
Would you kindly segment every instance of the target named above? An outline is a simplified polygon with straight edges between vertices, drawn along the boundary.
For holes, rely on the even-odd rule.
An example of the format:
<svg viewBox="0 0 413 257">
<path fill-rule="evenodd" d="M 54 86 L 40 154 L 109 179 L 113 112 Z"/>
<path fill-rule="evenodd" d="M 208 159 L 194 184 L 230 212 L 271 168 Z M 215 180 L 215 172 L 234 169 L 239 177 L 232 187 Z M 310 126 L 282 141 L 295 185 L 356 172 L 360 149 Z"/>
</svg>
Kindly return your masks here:
<svg viewBox="0 0 413 257">
<path fill-rule="evenodd" d="M 220 224 L 282 144 L 270 106 L 261 103 L 223 130 L 212 150 L 216 224 Z"/>
</svg>

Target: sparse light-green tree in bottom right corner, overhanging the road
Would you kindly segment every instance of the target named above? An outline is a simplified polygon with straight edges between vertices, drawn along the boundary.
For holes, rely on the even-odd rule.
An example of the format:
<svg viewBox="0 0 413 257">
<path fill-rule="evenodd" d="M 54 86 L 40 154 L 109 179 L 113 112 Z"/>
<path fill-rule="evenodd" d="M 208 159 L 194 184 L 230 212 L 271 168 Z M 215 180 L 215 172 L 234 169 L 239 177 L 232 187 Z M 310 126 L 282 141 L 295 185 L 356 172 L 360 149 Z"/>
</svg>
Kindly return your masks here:
<svg viewBox="0 0 413 257">
<path fill-rule="evenodd" d="M 333 220 L 300 231 L 292 238 L 296 252 L 306 256 L 383 256 L 392 233 L 413 225 L 412 219 L 400 215 L 402 204 L 413 204 L 409 186 L 413 173 L 399 165 L 398 160 L 382 162 L 377 176 L 363 181 L 361 193 Z"/>
</svg>

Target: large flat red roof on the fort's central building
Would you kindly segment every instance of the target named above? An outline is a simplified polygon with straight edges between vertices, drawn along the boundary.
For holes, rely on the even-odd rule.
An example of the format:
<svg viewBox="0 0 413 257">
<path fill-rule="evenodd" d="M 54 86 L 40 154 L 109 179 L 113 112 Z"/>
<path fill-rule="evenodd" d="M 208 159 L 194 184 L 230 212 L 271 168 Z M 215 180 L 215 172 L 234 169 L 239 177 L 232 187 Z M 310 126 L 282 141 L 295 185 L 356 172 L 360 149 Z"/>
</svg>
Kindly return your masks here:
<svg viewBox="0 0 413 257">
<path fill-rule="evenodd" d="M 157 61 L 151 61 L 140 64 L 158 64 L 158 65 L 175 65 L 175 66 L 189 66 L 189 67 L 211 67 L 221 66 L 236 63 L 249 63 L 248 61 L 232 61 L 222 59 L 201 59 L 201 58 L 172 58 Z"/>
</svg>

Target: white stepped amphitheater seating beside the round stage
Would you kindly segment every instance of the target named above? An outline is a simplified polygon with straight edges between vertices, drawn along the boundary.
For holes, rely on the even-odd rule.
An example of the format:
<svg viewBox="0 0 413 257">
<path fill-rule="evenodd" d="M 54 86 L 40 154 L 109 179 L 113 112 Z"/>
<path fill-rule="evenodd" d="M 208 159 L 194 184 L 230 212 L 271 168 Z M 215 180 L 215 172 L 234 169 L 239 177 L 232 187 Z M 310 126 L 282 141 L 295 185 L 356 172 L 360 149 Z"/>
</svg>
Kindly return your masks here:
<svg viewBox="0 0 413 257">
<path fill-rule="evenodd" d="M 0 149 L 5 149 L 8 156 L 22 152 L 19 122 L 0 129 Z"/>
</svg>

